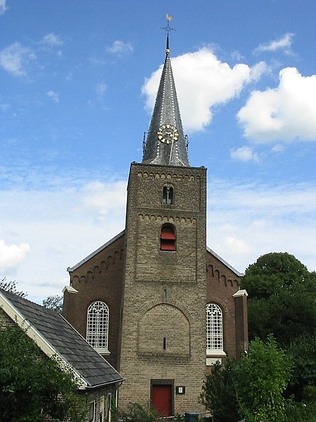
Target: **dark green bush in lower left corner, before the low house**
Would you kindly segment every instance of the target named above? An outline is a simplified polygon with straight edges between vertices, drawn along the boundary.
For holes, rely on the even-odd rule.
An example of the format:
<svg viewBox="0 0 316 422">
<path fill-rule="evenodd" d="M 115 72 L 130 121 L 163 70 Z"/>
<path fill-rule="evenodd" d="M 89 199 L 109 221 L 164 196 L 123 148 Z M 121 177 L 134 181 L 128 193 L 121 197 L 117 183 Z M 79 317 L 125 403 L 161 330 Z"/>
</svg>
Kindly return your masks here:
<svg viewBox="0 0 316 422">
<path fill-rule="evenodd" d="M 86 406 L 77 395 L 70 371 L 48 359 L 18 326 L 0 330 L 1 422 L 85 420 Z"/>
</svg>

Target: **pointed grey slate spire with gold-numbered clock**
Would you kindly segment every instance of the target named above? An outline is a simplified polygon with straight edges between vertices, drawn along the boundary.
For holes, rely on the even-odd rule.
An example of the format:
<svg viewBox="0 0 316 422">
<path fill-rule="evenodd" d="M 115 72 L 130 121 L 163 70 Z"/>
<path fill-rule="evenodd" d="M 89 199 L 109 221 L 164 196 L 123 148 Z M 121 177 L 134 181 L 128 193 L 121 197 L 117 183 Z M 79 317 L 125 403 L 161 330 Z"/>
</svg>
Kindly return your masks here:
<svg viewBox="0 0 316 422">
<path fill-rule="evenodd" d="M 143 151 L 143 164 L 190 166 L 171 69 L 169 31 L 166 59 Z"/>
</svg>

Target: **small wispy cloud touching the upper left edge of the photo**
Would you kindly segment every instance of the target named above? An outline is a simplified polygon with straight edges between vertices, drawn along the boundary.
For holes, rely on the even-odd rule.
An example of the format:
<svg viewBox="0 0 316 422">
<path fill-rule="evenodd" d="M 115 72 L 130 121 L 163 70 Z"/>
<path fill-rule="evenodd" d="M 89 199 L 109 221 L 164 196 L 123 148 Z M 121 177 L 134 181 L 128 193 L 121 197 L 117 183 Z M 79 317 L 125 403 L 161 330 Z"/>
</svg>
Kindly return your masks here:
<svg viewBox="0 0 316 422">
<path fill-rule="evenodd" d="M 4 70 L 15 76 L 26 75 L 26 67 L 35 60 L 34 52 L 22 46 L 19 42 L 15 42 L 5 49 L 0 51 L 0 65 Z"/>
</svg>

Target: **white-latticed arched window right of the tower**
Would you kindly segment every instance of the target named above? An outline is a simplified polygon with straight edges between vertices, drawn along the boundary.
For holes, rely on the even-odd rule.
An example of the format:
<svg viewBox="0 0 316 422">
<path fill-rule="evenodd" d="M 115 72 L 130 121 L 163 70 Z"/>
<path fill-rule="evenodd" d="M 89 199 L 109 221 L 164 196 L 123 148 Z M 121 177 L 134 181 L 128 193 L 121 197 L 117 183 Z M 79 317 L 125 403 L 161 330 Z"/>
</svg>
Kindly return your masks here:
<svg viewBox="0 0 316 422">
<path fill-rule="evenodd" d="M 206 305 L 206 353 L 223 352 L 223 313 L 215 303 Z"/>
</svg>

